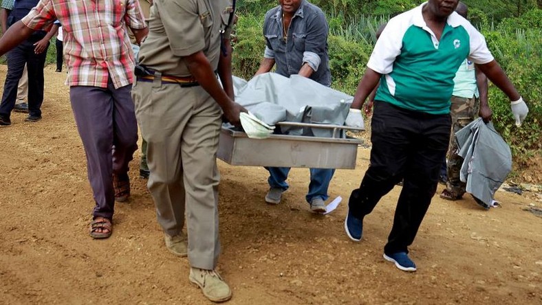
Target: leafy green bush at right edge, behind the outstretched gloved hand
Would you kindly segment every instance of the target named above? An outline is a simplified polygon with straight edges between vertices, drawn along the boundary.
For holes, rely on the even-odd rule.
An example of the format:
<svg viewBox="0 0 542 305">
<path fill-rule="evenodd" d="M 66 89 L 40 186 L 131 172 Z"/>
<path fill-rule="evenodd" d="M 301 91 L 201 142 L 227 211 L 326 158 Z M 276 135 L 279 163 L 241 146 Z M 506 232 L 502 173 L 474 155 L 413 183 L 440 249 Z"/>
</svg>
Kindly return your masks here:
<svg viewBox="0 0 542 305">
<path fill-rule="evenodd" d="M 514 163 L 521 169 L 528 166 L 534 153 L 542 151 L 542 30 L 484 34 L 497 62 L 529 106 L 527 119 L 517 128 L 508 97 L 490 84 L 489 103 L 495 128 L 510 145 Z"/>
</svg>

